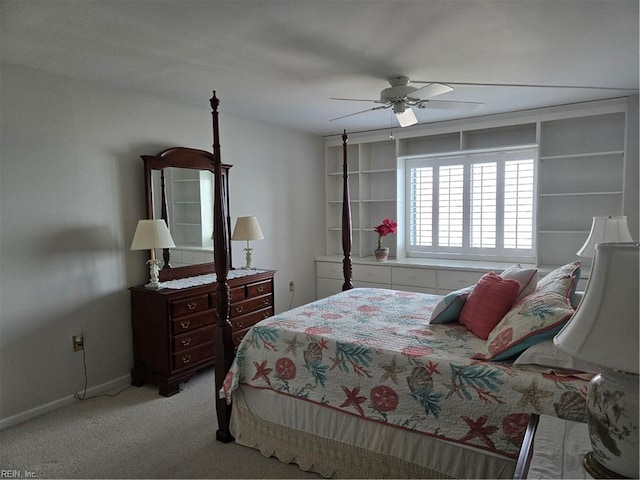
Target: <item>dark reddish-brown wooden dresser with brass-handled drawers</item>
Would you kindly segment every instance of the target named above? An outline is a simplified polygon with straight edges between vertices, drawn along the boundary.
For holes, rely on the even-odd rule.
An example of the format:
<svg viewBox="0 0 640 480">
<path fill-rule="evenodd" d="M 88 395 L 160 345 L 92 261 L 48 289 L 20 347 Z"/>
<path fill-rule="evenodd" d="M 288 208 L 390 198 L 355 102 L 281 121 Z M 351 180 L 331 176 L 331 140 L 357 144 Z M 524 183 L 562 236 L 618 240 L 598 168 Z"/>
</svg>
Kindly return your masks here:
<svg viewBox="0 0 640 480">
<path fill-rule="evenodd" d="M 273 270 L 229 272 L 230 322 L 236 346 L 249 327 L 274 314 Z M 188 282 L 189 279 L 182 281 Z M 162 285 L 162 283 L 161 283 Z M 214 363 L 216 283 L 131 288 L 134 366 L 131 384 L 158 385 L 160 395 L 180 391 L 180 383 Z"/>
</svg>

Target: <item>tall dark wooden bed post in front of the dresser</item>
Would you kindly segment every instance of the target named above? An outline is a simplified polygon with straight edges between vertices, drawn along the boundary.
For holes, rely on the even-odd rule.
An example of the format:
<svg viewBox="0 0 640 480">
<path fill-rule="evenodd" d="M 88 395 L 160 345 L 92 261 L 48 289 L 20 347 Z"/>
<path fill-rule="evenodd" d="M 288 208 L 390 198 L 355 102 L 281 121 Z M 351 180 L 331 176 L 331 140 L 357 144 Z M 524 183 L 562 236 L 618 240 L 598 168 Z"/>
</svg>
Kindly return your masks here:
<svg viewBox="0 0 640 480">
<path fill-rule="evenodd" d="M 228 443 L 233 440 L 229 430 L 231 419 L 231 405 L 218 392 L 222 388 L 224 377 L 231 367 L 234 357 L 231 323 L 229 323 L 229 285 L 227 273 L 229 271 L 229 236 L 227 222 L 224 217 L 224 194 L 222 179 L 222 160 L 220 158 L 220 133 L 218 130 L 218 105 L 220 101 L 214 90 L 210 100 L 211 115 L 213 117 L 213 256 L 216 271 L 216 328 L 214 334 L 215 377 L 216 377 L 216 413 L 218 417 L 218 431 L 216 439 Z"/>
</svg>

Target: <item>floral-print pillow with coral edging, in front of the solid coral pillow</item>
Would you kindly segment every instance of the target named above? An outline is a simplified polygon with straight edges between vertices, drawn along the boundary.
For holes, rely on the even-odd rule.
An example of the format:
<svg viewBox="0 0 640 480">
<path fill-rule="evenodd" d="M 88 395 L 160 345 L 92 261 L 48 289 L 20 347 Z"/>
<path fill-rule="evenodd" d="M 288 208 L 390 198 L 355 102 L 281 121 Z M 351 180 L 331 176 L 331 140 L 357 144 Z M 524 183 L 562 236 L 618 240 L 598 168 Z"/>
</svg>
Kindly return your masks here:
<svg viewBox="0 0 640 480">
<path fill-rule="evenodd" d="M 509 360 L 531 345 L 553 338 L 572 314 L 564 295 L 536 290 L 504 316 L 484 348 L 472 358 Z"/>
</svg>

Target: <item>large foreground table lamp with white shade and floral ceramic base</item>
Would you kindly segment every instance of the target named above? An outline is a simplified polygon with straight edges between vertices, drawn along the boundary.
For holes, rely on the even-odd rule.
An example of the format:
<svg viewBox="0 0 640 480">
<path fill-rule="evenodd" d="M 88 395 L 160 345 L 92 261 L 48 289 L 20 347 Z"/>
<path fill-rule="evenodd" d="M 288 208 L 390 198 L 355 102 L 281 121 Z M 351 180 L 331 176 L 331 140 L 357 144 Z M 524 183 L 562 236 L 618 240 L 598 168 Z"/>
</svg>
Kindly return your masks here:
<svg viewBox="0 0 640 480">
<path fill-rule="evenodd" d="M 595 224 L 595 222 L 594 222 Z M 594 478 L 638 478 L 638 269 L 640 244 L 598 243 L 584 298 L 554 343 L 601 367 L 589 383 Z"/>
</svg>

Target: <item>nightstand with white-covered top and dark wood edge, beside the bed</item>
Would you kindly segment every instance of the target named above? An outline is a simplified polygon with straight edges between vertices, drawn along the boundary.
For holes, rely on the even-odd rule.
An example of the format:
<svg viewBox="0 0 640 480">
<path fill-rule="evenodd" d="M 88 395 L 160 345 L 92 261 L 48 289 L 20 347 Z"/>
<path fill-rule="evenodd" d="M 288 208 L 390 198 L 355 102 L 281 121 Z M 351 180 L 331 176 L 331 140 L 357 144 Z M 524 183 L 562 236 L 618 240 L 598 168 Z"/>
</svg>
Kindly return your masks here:
<svg viewBox="0 0 640 480">
<path fill-rule="evenodd" d="M 586 423 L 532 415 L 514 478 L 593 478 L 582 466 L 591 442 Z"/>
</svg>

